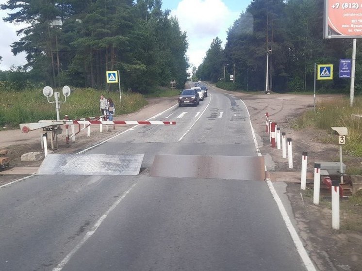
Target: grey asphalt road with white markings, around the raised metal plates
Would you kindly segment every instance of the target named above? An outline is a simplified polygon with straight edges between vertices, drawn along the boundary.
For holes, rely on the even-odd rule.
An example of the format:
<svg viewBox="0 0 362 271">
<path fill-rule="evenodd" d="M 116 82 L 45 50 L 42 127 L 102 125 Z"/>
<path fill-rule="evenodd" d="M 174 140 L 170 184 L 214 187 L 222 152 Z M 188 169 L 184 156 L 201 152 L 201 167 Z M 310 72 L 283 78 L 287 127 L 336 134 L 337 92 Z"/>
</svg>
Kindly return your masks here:
<svg viewBox="0 0 362 271">
<path fill-rule="evenodd" d="M 266 182 L 148 174 L 156 154 L 258 156 L 241 100 L 209 89 L 152 120 L 177 125 L 83 152 L 144 153 L 140 175 L 35 175 L 0 189 L 0 270 L 307 270 Z"/>
</svg>

